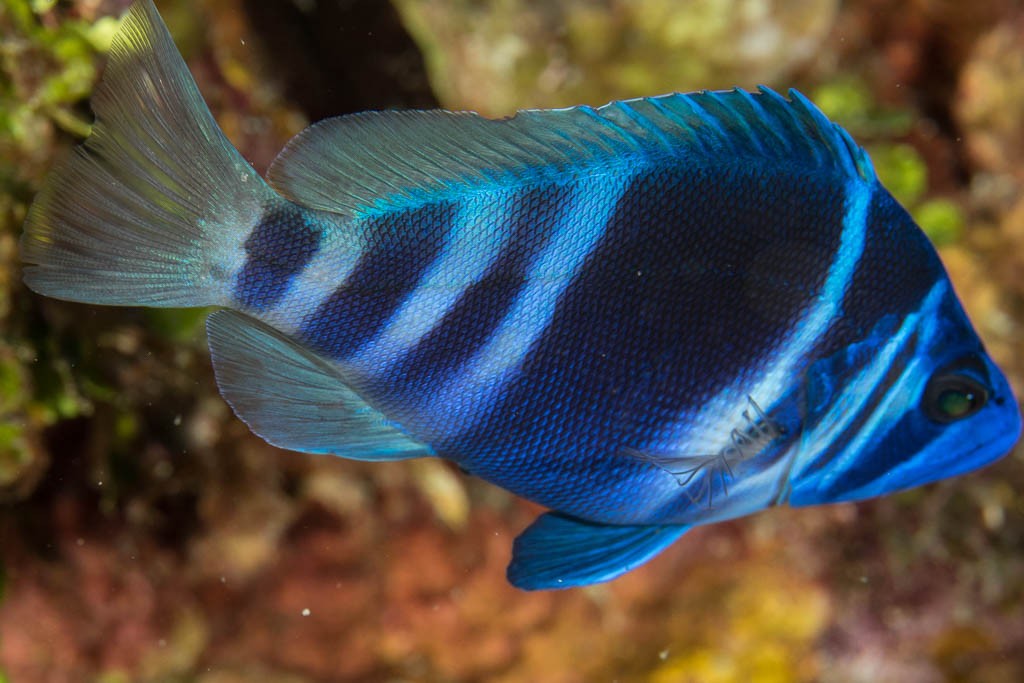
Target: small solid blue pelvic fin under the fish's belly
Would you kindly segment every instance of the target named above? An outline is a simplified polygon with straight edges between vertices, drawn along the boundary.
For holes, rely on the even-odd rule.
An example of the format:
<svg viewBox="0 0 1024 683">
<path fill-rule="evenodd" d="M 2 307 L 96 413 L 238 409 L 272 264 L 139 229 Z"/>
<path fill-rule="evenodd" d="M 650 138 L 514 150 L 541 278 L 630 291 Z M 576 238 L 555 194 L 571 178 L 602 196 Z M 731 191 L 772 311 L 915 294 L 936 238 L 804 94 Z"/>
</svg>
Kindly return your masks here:
<svg viewBox="0 0 1024 683">
<path fill-rule="evenodd" d="M 515 540 L 508 579 L 526 591 L 611 581 L 668 548 L 689 528 L 597 524 L 549 512 Z"/>
</svg>

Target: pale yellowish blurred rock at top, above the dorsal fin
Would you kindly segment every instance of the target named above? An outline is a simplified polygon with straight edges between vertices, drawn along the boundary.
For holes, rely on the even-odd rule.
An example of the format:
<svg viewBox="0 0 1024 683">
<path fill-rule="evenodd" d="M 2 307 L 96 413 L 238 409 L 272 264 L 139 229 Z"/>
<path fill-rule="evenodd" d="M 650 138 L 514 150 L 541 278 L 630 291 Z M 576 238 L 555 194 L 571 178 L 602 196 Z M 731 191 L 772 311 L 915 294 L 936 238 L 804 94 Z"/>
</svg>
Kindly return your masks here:
<svg viewBox="0 0 1024 683">
<path fill-rule="evenodd" d="M 397 0 L 441 102 L 487 115 L 779 81 L 834 0 Z"/>
</svg>

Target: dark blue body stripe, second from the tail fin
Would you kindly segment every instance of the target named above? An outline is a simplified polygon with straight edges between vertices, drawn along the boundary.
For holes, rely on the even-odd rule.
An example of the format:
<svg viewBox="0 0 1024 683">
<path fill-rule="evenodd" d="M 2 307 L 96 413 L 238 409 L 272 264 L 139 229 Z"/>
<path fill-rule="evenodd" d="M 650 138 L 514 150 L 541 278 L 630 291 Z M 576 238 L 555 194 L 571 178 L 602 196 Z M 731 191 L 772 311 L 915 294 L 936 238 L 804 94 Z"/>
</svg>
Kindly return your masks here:
<svg viewBox="0 0 1024 683">
<path fill-rule="evenodd" d="M 367 220 L 368 246 L 347 281 L 302 328 L 313 348 L 343 358 L 376 335 L 444 247 L 453 203 L 430 204 Z"/>
</svg>

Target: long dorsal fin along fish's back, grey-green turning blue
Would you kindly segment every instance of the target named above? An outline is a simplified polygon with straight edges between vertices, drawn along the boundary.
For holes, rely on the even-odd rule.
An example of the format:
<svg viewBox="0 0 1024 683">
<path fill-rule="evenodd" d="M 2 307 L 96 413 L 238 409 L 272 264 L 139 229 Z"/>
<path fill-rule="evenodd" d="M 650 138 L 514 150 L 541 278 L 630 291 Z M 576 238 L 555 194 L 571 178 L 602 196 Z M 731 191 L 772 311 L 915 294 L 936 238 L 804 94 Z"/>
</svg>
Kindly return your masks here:
<svg viewBox="0 0 1024 683">
<path fill-rule="evenodd" d="M 508 119 L 444 111 L 368 112 L 296 135 L 268 177 L 286 197 L 345 214 L 442 199 L 472 185 L 557 178 L 626 159 L 770 160 L 874 178 L 867 155 L 803 95 L 762 87 L 670 94 Z"/>
</svg>

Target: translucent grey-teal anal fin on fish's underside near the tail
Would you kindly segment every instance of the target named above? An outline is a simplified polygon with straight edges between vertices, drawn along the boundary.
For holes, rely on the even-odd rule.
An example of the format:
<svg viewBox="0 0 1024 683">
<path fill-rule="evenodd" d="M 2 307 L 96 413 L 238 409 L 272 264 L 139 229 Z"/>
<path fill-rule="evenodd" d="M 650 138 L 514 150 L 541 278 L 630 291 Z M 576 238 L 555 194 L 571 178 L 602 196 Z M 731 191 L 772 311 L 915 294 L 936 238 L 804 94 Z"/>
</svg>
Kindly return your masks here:
<svg viewBox="0 0 1024 683">
<path fill-rule="evenodd" d="M 433 455 L 360 396 L 342 370 L 270 326 L 219 310 L 207 334 L 221 394 L 267 442 L 352 460 Z"/>
</svg>

